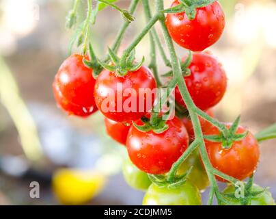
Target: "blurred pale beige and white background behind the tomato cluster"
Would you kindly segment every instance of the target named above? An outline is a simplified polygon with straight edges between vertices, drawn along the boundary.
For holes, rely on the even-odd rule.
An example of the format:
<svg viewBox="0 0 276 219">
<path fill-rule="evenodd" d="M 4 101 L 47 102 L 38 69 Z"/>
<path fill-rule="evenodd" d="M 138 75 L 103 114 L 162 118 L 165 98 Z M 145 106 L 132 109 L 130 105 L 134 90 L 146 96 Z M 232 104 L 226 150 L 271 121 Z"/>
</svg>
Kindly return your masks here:
<svg viewBox="0 0 276 219">
<path fill-rule="evenodd" d="M 216 115 L 228 122 L 241 113 L 243 125 L 256 133 L 276 123 L 276 1 L 220 2 L 227 25 L 208 50 L 225 67 L 229 86 Z M 118 4 L 127 8 L 129 3 Z M 166 1 L 167 8 L 170 3 Z M 55 105 L 52 82 L 68 55 L 73 33 L 64 23 L 71 7 L 70 0 L 0 1 L 0 205 L 68 204 L 81 198 L 92 205 L 141 204 L 143 193 L 129 188 L 120 173 L 124 148 L 106 136 L 102 116 L 68 117 Z M 141 14 L 139 8 L 121 50 L 145 25 Z M 99 57 L 121 23 L 120 14 L 110 8 L 98 15 L 93 42 Z M 148 43 L 145 38 L 139 44 L 139 57 L 148 56 Z M 178 52 L 185 53 L 179 47 Z M 165 72 L 161 57 L 158 63 Z M 274 197 L 275 143 L 261 145 L 256 173 L 256 182 L 271 187 Z M 40 183 L 40 198 L 30 198 L 31 181 Z"/>
</svg>

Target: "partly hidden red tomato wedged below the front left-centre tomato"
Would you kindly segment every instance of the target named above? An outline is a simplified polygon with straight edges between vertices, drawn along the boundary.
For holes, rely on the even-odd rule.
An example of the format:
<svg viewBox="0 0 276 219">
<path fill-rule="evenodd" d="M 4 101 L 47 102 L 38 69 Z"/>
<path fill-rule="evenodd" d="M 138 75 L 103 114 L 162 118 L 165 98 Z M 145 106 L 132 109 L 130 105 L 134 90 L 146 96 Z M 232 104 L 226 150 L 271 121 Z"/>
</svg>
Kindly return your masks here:
<svg viewBox="0 0 276 219">
<path fill-rule="evenodd" d="M 126 144 L 126 137 L 128 136 L 130 126 L 105 118 L 105 129 L 107 129 L 107 134 L 113 138 L 113 140 L 120 144 Z"/>
</svg>

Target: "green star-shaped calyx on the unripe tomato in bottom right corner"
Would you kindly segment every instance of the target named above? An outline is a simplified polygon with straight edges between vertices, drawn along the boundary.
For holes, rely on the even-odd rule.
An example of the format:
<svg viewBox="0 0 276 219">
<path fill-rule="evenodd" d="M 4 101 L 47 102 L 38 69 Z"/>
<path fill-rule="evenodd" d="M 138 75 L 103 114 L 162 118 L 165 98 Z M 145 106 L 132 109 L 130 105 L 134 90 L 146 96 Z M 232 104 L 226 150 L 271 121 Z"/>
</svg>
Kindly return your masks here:
<svg viewBox="0 0 276 219">
<path fill-rule="evenodd" d="M 249 178 L 249 181 L 245 183 L 245 185 L 242 183 L 238 183 L 235 186 L 237 191 L 240 191 L 240 194 L 223 194 L 221 193 L 221 196 L 225 198 L 227 201 L 232 201 L 232 202 L 240 202 L 242 205 L 251 205 L 251 200 L 253 198 L 258 198 L 264 194 L 268 190 L 268 188 L 264 188 L 261 191 L 258 192 L 253 192 L 253 175 Z M 227 204 L 227 203 L 225 203 Z"/>
</svg>

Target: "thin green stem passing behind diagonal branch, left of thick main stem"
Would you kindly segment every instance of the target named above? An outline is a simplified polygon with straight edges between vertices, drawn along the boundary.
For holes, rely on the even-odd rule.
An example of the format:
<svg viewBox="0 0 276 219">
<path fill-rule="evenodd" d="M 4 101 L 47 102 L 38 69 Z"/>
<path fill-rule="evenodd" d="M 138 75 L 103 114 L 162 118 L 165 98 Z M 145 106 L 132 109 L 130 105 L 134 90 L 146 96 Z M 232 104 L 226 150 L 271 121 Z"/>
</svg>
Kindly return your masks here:
<svg viewBox="0 0 276 219">
<path fill-rule="evenodd" d="M 146 14 L 146 21 L 150 22 L 150 19 L 152 18 L 152 12 L 150 11 L 150 3 L 148 0 L 143 0 L 143 8 Z M 150 31 L 150 50 L 151 50 L 150 51 L 151 62 L 149 67 L 152 69 L 157 87 L 159 88 L 162 86 L 162 83 L 159 79 L 158 68 L 156 63 L 156 47 L 154 42 L 153 28 L 152 28 L 152 31 Z"/>
</svg>

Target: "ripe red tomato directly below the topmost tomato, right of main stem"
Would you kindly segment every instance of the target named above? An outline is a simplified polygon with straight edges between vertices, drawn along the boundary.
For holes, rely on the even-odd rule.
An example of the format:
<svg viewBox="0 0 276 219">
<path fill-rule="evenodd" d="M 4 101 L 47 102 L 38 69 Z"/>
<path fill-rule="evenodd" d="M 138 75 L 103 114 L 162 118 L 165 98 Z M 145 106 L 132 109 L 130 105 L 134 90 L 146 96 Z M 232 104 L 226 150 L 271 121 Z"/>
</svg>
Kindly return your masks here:
<svg viewBox="0 0 276 219">
<path fill-rule="evenodd" d="M 217 105 L 227 87 L 227 77 L 221 64 L 208 53 L 193 53 L 189 68 L 191 75 L 184 79 L 195 105 L 202 110 Z M 178 87 L 175 95 L 176 101 L 186 107 Z"/>
</svg>

